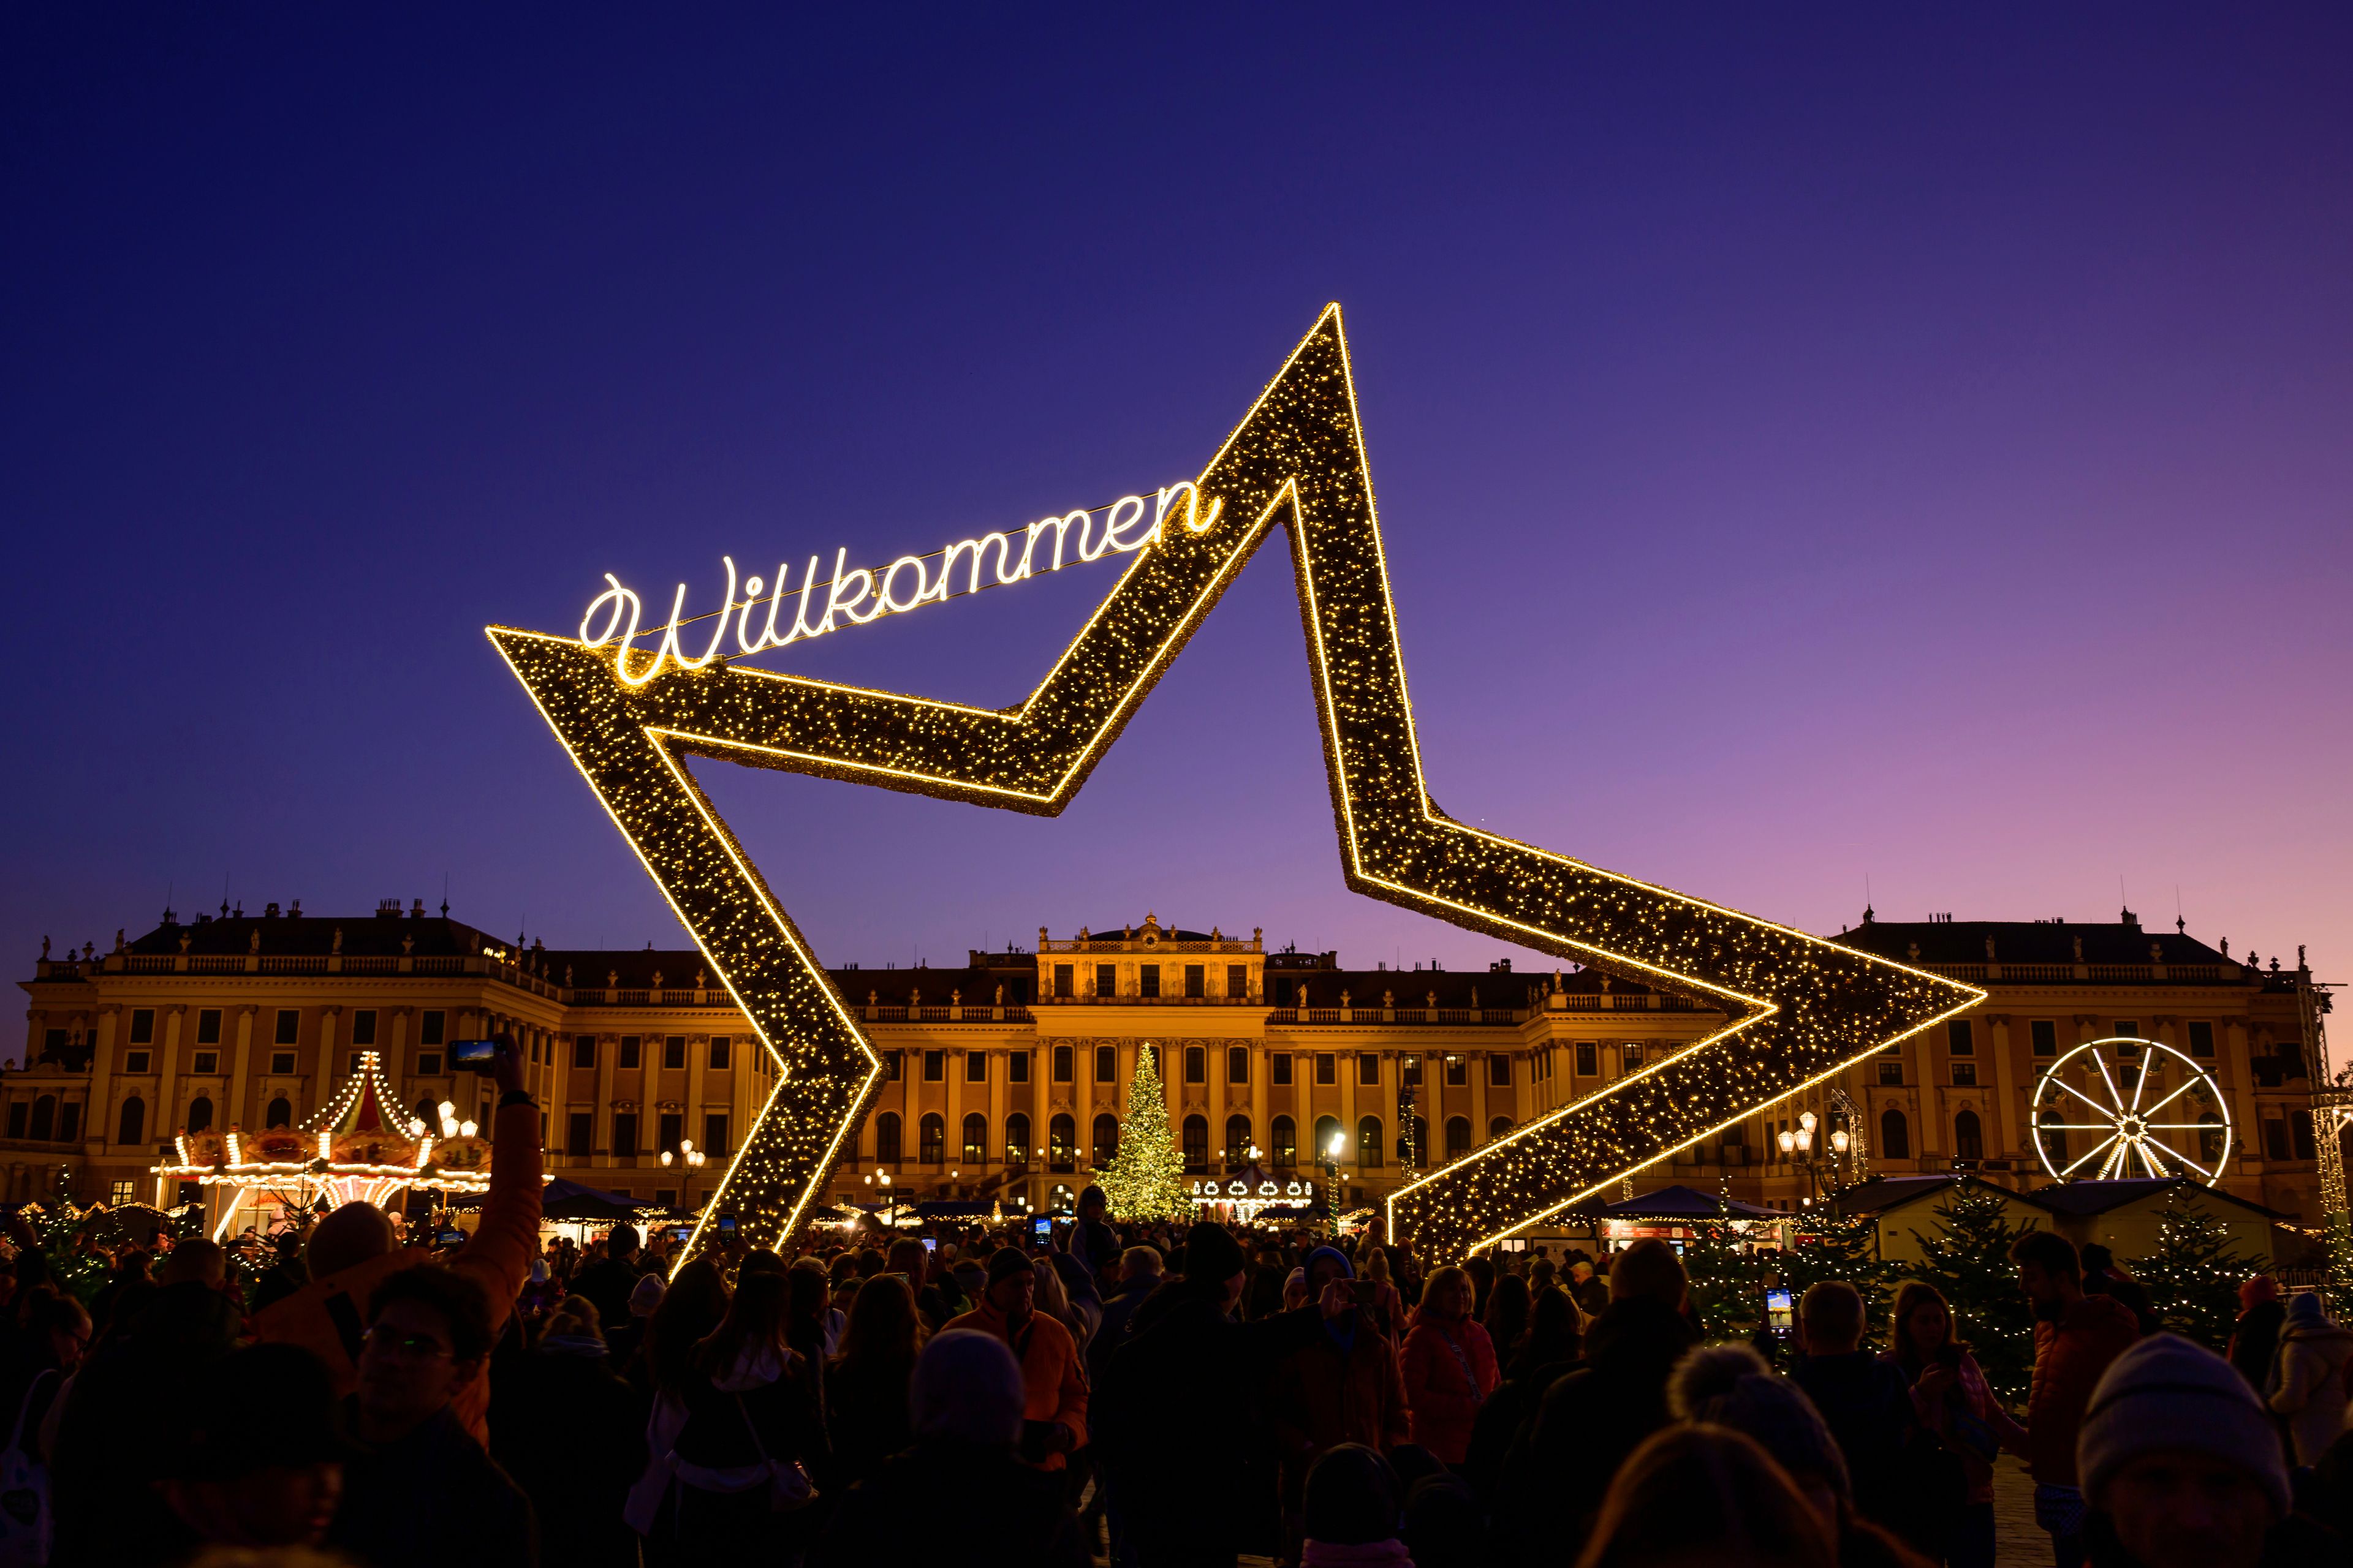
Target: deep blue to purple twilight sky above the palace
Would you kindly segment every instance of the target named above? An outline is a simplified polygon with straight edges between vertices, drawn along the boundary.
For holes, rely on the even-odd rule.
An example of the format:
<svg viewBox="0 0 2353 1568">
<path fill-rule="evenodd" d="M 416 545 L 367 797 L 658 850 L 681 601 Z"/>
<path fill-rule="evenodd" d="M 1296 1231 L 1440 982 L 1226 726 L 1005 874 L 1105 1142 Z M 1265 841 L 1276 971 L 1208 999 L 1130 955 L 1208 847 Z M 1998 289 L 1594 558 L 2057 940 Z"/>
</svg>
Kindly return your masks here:
<svg viewBox="0 0 2353 1568">
<path fill-rule="evenodd" d="M 678 943 L 485 623 L 1191 475 L 1339 299 L 1447 811 L 2353 978 L 2341 7 L 492 9 L 0 24 L 19 973 L 224 877 Z M 1061 820 L 704 778 L 826 961 L 1494 957 L 1341 889 L 1285 552 Z M 1111 578 L 781 663 L 1012 703 Z"/>
</svg>

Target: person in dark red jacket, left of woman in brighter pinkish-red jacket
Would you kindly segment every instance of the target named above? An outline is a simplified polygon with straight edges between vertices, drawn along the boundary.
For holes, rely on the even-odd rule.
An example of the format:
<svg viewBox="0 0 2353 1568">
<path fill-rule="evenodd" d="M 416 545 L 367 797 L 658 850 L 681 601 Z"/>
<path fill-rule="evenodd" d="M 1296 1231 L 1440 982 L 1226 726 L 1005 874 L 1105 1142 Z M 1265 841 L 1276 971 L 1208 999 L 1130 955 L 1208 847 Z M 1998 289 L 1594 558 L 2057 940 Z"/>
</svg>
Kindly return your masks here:
<svg viewBox="0 0 2353 1568">
<path fill-rule="evenodd" d="M 1332 1246 L 1308 1253 L 1308 1291 L 1353 1279 L 1348 1255 Z M 1358 1293 L 1369 1295 L 1369 1293 Z M 1285 1544 L 1299 1537 L 1308 1472 L 1315 1460 L 1358 1443 L 1388 1453 L 1407 1441 L 1405 1378 L 1398 1352 L 1362 1305 L 1327 1316 L 1322 1335 L 1275 1366 L 1275 1450 L 1282 1462 Z"/>
</svg>

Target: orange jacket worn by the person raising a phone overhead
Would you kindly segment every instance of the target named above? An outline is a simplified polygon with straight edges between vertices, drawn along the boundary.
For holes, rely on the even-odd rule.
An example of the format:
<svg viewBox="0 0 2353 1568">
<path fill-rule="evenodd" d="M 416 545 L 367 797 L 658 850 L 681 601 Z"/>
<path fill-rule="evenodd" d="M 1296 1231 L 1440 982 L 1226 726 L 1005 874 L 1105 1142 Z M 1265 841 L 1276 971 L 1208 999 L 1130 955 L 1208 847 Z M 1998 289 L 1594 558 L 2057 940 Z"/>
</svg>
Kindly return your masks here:
<svg viewBox="0 0 2353 1568">
<path fill-rule="evenodd" d="M 489 1197 L 482 1199 L 482 1222 L 466 1246 L 449 1255 L 449 1267 L 471 1274 L 489 1295 L 489 1331 L 496 1335 L 515 1312 L 515 1295 L 532 1276 L 539 1255 L 539 1107 L 506 1105 L 489 1133 Z M 431 1262 L 433 1253 L 405 1246 L 355 1262 L 348 1269 L 313 1279 L 294 1295 L 254 1314 L 254 1338 L 278 1345 L 301 1345 L 334 1378 L 341 1399 L 358 1385 L 360 1333 L 367 1328 L 367 1298 L 386 1274 Z M 489 1439 L 489 1356 L 473 1382 L 449 1401 L 475 1441 Z"/>
</svg>

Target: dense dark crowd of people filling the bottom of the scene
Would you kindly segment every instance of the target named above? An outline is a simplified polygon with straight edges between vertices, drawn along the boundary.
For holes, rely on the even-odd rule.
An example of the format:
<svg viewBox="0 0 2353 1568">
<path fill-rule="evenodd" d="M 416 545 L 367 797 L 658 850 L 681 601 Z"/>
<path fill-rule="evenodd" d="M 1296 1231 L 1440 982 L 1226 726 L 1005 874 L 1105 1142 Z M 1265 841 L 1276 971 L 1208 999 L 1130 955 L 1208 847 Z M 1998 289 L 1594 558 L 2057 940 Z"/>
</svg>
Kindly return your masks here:
<svg viewBox="0 0 2353 1568">
<path fill-rule="evenodd" d="M 242 1286 L 212 1241 L 127 1253 L 87 1309 L 21 1248 L 0 1568 L 1988 1568 L 2005 1453 L 2054 1568 L 2353 1561 L 2353 1333 L 2268 1281 L 2219 1356 L 2028 1232 L 2019 1415 L 1927 1284 L 1885 1342 L 1814 1284 L 1760 1354 L 1701 1342 L 1664 1241 L 1426 1267 L 1087 1190 L 1049 1239 L 541 1246 L 501 1081 L 461 1246 L 353 1204 Z"/>
</svg>

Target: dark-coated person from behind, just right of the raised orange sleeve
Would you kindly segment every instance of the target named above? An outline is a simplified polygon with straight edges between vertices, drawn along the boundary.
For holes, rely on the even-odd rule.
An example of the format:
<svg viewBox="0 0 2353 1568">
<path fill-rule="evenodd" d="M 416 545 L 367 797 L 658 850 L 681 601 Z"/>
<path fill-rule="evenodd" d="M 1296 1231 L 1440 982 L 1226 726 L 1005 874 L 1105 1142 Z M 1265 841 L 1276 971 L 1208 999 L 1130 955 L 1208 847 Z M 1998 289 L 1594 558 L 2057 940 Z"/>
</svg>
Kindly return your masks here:
<svg viewBox="0 0 2353 1568">
<path fill-rule="evenodd" d="M 614 1371 L 595 1305 L 558 1302 L 539 1345 L 494 1382 L 489 1453 L 532 1500 L 541 1561 L 635 1568 L 621 1502 L 645 1469 L 645 1410 Z"/>
</svg>

